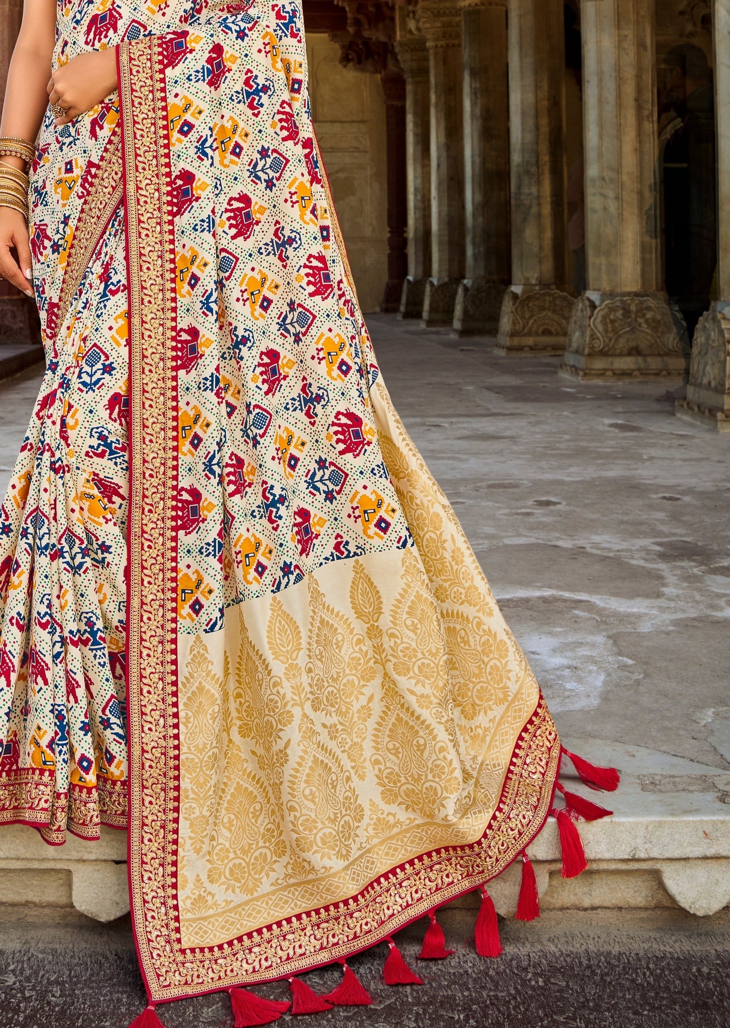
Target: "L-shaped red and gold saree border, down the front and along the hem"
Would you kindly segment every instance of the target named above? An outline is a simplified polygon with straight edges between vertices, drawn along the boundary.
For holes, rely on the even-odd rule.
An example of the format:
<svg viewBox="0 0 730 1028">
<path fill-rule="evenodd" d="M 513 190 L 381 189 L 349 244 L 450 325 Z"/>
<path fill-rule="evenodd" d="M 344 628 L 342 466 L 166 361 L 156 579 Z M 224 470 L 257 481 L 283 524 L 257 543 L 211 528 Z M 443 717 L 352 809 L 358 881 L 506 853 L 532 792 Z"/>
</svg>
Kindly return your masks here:
<svg viewBox="0 0 730 1028">
<path fill-rule="evenodd" d="M 475 842 L 439 847 L 406 860 L 339 903 L 216 946 L 182 947 L 177 898 L 177 339 L 170 138 L 158 40 L 143 37 L 120 44 L 117 52 L 130 302 L 130 902 L 147 994 L 152 1002 L 167 1002 L 331 963 L 494 878 L 545 823 L 560 744 L 539 696 L 515 743 L 499 803 Z M 334 222 L 333 209 L 330 217 Z"/>
</svg>

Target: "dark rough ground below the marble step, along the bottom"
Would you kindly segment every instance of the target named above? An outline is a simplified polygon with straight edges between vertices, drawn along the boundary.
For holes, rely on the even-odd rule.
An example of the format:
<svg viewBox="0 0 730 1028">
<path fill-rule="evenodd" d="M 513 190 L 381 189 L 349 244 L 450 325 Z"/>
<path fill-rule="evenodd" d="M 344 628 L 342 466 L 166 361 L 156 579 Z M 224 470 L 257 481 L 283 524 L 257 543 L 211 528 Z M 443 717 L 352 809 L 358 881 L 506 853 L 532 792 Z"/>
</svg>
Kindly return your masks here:
<svg viewBox="0 0 730 1028">
<path fill-rule="evenodd" d="M 309 1028 L 727 1028 L 730 919 L 697 923 L 660 915 L 543 915 L 503 929 L 499 960 L 478 957 L 444 924 L 457 953 L 417 960 L 415 938 L 399 943 L 423 986 L 389 987 L 386 947 L 352 959 L 372 1006 L 306 1018 Z M 424 926 L 413 937 L 423 938 Z M 337 967 L 306 976 L 326 993 Z M 288 998 L 284 983 L 256 990 Z M 126 1028 L 145 1003 L 129 919 L 111 927 L 0 924 L 4 1028 Z M 231 1028 L 224 993 L 157 1007 L 167 1028 Z M 297 1019 L 298 1023 L 298 1019 Z M 293 1020 L 278 1022 L 289 1028 Z"/>
</svg>

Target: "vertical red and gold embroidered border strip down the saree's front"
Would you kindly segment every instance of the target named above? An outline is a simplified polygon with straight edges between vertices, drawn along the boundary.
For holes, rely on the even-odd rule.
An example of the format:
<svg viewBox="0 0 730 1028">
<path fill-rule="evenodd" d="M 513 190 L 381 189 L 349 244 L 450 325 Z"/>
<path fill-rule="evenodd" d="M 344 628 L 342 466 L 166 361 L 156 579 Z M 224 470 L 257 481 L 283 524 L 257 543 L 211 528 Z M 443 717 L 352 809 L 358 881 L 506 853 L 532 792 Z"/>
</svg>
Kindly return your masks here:
<svg viewBox="0 0 730 1028">
<path fill-rule="evenodd" d="M 176 266 L 157 38 L 120 43 L 117 73 L 130 313 L 127 870 L 140 969 L 152 997 L 169 946 L 165 913 L 177 894 L 170 828 L 179 809 Z"/>
</svg>

